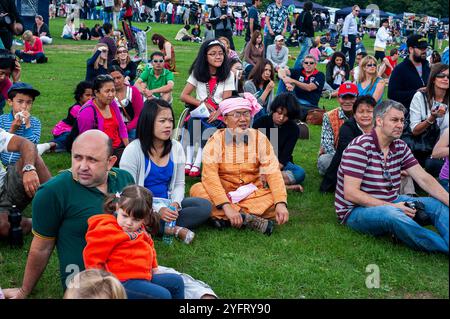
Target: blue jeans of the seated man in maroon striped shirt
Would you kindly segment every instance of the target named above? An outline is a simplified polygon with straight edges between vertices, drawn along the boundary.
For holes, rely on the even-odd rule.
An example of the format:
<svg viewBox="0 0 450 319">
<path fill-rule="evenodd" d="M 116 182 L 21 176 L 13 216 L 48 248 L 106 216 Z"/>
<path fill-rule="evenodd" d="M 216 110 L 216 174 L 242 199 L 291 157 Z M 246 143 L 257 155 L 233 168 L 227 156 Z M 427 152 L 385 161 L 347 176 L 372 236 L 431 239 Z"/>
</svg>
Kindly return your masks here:
<svg viewBox="0 0 450 319">
<path fill-rule="evenodd" d="M 427 252 L 448 254 L 448 207 L 432 197 L 409 197 L 401 195 L 394 203 L 420 201 L 425 213 L 439 234 L 417 224 L 401 209 L 384 205 L 377 207 L 356 207 L 348 216 L 348 227 L 366 234 L 380 236 L 394 234 L 411 248 Z"/>
</svg>

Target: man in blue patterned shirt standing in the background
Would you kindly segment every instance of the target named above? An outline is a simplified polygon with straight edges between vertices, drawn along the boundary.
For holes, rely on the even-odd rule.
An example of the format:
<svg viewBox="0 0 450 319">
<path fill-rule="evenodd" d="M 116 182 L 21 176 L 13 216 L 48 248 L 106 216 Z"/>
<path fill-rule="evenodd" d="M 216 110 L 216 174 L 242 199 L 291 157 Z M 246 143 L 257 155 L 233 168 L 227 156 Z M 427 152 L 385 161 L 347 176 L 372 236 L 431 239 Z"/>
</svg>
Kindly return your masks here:
<svg viewBox="0 0 450 319">
<path fill-rule="evenodd" d="M 283 6 L 283 0 L 275 0 L 270 4 L 266 10 L 265 26 L 267 27 L 267 34 L 264 36 L 264 48 L 273 44 L 275 37 L 281 35 L 284 37 L 288 24 L 289 12 Z"/>
</svg>

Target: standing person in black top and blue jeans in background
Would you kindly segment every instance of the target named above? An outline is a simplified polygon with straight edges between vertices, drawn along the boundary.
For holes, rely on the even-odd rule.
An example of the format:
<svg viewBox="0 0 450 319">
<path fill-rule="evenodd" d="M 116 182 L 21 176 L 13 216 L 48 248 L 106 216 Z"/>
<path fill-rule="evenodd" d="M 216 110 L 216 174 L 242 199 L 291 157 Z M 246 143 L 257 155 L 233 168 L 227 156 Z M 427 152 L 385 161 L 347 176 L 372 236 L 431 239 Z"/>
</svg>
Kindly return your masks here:
<svg viewBox="0 0 450 319">
<path fill-rule="evenodd" d="M 313 3 L 311 1 L 305 2 L 303 4 L 303 11 L 297 16 L 295 20 L 295 27 L 299 32 L 300 39 L 299 45 L 301 46 L 300 53 L 295 60 L 294 68 L 300 68 L 302 66 L 303 59 L 309 53 L 313 45 L 314 39 L 314 25 L 313 16 L 311 10 L 313 8 Z"/>
</svg>

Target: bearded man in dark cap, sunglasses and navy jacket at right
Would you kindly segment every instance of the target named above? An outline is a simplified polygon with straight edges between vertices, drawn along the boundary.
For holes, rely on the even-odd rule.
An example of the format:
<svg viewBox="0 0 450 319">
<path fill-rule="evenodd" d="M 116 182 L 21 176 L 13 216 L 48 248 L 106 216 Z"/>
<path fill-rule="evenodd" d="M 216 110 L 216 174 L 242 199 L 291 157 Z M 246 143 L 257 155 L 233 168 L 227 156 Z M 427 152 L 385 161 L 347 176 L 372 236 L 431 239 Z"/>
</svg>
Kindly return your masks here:
<svg viewBox="0 0 450 319">
<path fill-rule="evenodd" d="M 426 59 L 428 41 L 419 34 L 408 37 L 406 45 L 409 57 L 392 71 L 389 80 L 388 98 L 403 104 L 409 118 L 409 105 L 417 90 L 425 89 L 430 76 L 430 66 Z"/>
</svg>

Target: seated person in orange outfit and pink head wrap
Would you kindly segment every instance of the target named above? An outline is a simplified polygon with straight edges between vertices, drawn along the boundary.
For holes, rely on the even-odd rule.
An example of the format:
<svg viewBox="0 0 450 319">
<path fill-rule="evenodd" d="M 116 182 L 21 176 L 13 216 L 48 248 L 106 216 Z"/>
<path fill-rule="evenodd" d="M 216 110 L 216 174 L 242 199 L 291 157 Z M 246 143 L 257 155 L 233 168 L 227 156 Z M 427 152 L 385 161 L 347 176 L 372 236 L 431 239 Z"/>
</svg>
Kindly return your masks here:
<svg viewBox="0 0 450 319">
<path fill-rule="evenodd" d="M 286 223 L 289 212 L 272 145 L 263 133 L 250 128 L 251 117 L 260 109 L 250 93 L 220 102 L 227 128 L 208 140 L 202 181 L 191 187 L 190 194 L 213 204 L 214 226 L 245 226 L 270 235 L 274 220 L 279 225 Z"/>
</svg>

